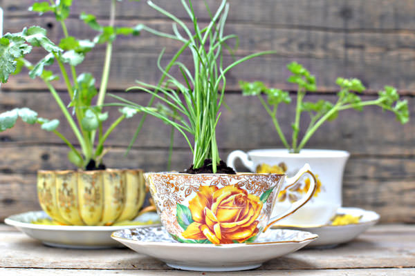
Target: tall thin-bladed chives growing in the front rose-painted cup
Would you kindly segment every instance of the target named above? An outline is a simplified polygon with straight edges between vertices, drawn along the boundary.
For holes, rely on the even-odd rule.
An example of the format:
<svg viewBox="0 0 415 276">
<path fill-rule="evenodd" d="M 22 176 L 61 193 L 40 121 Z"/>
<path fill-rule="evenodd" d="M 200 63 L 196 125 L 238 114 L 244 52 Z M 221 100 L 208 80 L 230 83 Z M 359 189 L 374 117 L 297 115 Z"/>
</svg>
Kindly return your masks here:
<svg viewBox="0 0 415 276">
<path fill-rule="evenodd" d="M 223 50 L 229 49 L 228 41 L 230 39 L 237 39 L 234 34 L 224 34 L 225 22 L 229 12 L 229 4 L 226 0 L 221 1 L 221 5 L 214 14 L 210 12 L 207 6 L 210 22 L 204 28 L 199 26 L 192 1 L 181 0 L 185 12 L 187 12 L 192 22 L 192 30 L 174 14 L 167 12 L 167 10 L 160 8 L 151 1 L 147 3 L 154 10 L 174 21 L 174 34 L 160 32 L 147 26 L 144 26 L 143 30 L 183 43 L 183 47 L 192 55 L 192 68 L 180 61 L 175 61 L 173 65 L 181 72 L 181 77 L 178 79 L 170 75 L 166 68 L 163 68 L 160 64 L 164 54 L 163 50 L 158 58 L 158 68 L 166 76 L 166 80 L 160 83 L 159 86 L 137 81 L 138 86 L 129 88 L 129 90 L 148 92 L 159 100 L 158 106 L 145 108 L 115 95 L 113 97 L 120 99 L 125 107 L 136 108 L 172 125 L 181 132 L 192 150 L 193 168 L 201 168 L 205 159 L 211 159 L 212 171 L 216 172 L 217 165 L 221 160 L 216 141 L 216 126 L 221 117 L 220 110 L 225 95 L 225 75 L 243 61 L 270 52 L 248 55 L 225 66 Z M 172 65 L 172 63 L 169 63 L 169 65 Z M 193 144 L 191 137 L 193 138 Z"/>
</svg>

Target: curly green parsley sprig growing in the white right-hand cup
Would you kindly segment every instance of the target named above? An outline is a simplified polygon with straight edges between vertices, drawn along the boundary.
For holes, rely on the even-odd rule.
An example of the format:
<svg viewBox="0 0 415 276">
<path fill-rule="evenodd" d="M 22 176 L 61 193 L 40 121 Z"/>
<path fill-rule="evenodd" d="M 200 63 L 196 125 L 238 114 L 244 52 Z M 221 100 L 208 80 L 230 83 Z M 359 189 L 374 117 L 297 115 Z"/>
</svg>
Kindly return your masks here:
<svg viewBox="0 0 415 276">
<path fill-rule="evenodd" d="M 408 104 L 406 100 L 400 100 L 396 88 L 385 86 L 384 90 L 378 93 L 378 99 L 371 101 L 362 101 L 357 93 L 362 93 L 366 90 L 365 86 L 359 79 L 343 79 L 338 78 L 336 83 L 340 86 L 338 92 L 338 100 L 335 103 L 330 101 L 320 100 L 315 103 L 304 101 L 306 92 L 313 92 L 316 90 L 315 77 L 306 70 L 301 64 L 293 62 L 288 64 L 288 70 L 293 75 L 288 77 L 288 82 L 296 83 L 297 88 L 297 103 L 295 108 L 295 121 L 293 127 L 292 144 L 288 144 L 284 132 L 282 132 L 279 121 L 277 119 L 278 106 L 280 103 L 291 103 L 289 92 L 277 88 L 267 88 L 261 81 L 252 83 L 241 81 L 240 85 L 244 96 L 257 96 L 264 106 L 268 115 L 273 119 L 275 130 L 281 139 L 282 144 L 291 152 L 298 153 L 308 140 L 313 136 L 315 131 L 324 124 L 325 121 L 333 121 L 338 117 L 338 112 L 354 108 L 361 111 L 364 106 L 380 106 L 382 110 L 389 110 L 394 112 L 396 119 L 401 124 L 406 124 L 409 121 Z M 263 94 L 266 95 L 267 100 L 264 99 Z M 310 115 L 310 123 L 301 141 L 299 141 L 299 122 L 302 112 L 308 112 Z"/>
</svg>

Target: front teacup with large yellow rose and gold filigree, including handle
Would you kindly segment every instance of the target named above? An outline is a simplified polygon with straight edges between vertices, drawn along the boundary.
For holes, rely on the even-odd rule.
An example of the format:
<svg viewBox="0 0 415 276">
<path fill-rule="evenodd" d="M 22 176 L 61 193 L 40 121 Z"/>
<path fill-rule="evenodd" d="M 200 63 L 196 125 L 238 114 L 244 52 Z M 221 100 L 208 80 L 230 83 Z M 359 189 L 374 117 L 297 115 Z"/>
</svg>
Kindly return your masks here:
<svg viewBox="0 0 415 276">
<path fill-rule="evenodd" d="M 166 230 L 176 241 L 197 244 L 254 242 L 275 222 L 295 213 L 313 197 L 315 176 L 306 164 L 286 179 L 294 186 L 302 175 L 313 179 L 306 196 L 271 217 L 286 174 L 237 175 L 146 172 L 144 177 Z"/>
</svg>

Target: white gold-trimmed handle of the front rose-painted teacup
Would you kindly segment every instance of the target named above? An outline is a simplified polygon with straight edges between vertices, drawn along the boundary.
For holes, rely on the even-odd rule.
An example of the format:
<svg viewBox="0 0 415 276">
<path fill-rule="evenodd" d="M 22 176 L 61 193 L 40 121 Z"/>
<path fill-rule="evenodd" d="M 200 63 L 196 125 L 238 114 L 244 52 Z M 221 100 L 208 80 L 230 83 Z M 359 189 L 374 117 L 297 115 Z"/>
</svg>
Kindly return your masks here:
<svg viewBox="0 0 415 276">
<path fill-rule="evenodd" d="M 302 208 L 302 206 L 304 206 L 304 204 L 306 204 L 313 197 L 315 189 L 317 188 L 317 180 L 315 179 L 315 175 L 313 174 L 313 172 L 311 172 L 310 165 L 308 164 L 305 164 L 304 167 L 302 167 L 302 169 L 299 170 L 295 176 L 286 179 L 287 186 L 284 188 L 284 190 L 294 186 L 305 173 L 308 173 L 309 175 L 311 175 L 311 178 L 313 178 L 313 181 L 311 181 L 310 187 L 308 188 L 306 195 L 301 199 L 293 202 L 293 204 L 291 204 L 291 207 L 288 208 L 288 210 L 286 210 L 284 213 L 277 215 L 275 217 L 271 217 L 271 222 L 264 228 L 264 231 L 266 231 L 270 226 L 275 224 L 275 222 L 295 213 L 295 211 L 297 211 L 299 208 Z M 277 198 L 275 200 L 277 200 Z"/>
</svg>

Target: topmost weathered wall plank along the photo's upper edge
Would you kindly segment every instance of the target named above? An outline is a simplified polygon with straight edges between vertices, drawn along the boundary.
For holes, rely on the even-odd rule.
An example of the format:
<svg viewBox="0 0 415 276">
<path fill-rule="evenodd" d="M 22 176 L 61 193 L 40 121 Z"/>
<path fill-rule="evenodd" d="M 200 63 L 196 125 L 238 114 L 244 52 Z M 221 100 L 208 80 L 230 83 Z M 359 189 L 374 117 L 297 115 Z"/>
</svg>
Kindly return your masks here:
<svg viewBox="0 0 415 276">
<path fill-rule="evenodd" d="M 199 20 L 208 19 L 205 5 L 193 1 L 194 10 Z M 264 25 L 295 26 L 297 28 L 324 28 L 333 30 L 414 30 L 415 6 L 412 0 L 230 0 L 229 21 L 257 23 Z M 183 7 L 170 0 L 154 0 L 158 6 L 165 8 L 181 19 L 187 14 Z M 215 10 L 220 1 L 208 0 L 208 5 Z M 28 12 L 27 1 L 2 0 L 6 18 L 36 17 Z M 73 14 L 82 11 L 91 12 L 106 18 L 109 14 L 109 0 L 76 1 Z M 117 15 L 120 18 L 160 19 L 160 13 L 147 6 L 145 1 L 119 3 Z"/>
</svg>

